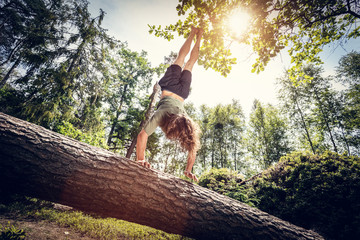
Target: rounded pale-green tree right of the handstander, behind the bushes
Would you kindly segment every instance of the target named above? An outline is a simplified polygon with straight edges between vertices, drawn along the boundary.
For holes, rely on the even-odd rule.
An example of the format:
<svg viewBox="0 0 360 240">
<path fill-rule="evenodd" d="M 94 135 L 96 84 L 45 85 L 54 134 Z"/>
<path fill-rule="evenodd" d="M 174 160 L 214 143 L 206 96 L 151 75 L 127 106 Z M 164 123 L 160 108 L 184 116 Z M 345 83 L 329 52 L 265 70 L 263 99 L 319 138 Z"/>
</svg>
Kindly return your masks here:
<svg viewBox="0 0 360 240">
<path fill-rule="evenodd" d="M 247 129 L 246 146 L 263 168 L 290 152 L 286 122 L 278 109 L 255 100 Z"/>
</svg>

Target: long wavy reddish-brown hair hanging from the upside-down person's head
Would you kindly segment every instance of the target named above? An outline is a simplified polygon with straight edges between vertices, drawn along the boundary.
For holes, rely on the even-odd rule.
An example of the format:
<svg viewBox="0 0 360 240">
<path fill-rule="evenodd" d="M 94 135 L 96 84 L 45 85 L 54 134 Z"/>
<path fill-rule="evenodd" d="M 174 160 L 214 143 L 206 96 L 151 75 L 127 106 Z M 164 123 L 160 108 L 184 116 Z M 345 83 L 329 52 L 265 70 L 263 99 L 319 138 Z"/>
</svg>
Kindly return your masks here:
<svg viewBox="0 0 360 240">
<path fill-rule="evenodd" d="M 200 128 L 191 118 L 183 114 L 167 114 L 160 122 L 165 136 L 180 143 L 188 152 L 197 152 L 200 148 Z"/>
</svg>

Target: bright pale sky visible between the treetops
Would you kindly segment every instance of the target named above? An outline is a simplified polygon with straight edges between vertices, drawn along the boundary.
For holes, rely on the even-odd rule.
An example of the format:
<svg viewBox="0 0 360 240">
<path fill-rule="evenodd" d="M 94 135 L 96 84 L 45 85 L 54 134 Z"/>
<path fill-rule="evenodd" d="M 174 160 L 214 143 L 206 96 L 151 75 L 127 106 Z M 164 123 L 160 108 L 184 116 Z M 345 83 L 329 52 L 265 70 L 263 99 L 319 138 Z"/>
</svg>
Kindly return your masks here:
<svg viewBox="0 0 360 240">
<path fill-rule="evenodd" d="M 167 26 L 178 20 L 176 6 L 178 0 L 89 0 L 89 10 L 93 16 L 99 14 L 99 9 L 106 12 L 103 28 L 116 39 L 127 42 L 132 51 L 146 51 L 152 66 L 164 62 L 164 57 L 171 51 L 178 52 L 185 39 L 175 35 L 172 41 L 155 37 L 148 33 L 150 25 Z M 324 62 L 325 75 L 334 74 L 341 56 L 352 50 L 360 49 L 360 40 L 349 41 L 345 46 L 330 45 L 321 54 Z M 256 55 L 245 45 L 233 45 L 232 56 L 237 58 L 237 64 L 227 77 L 212 69 L 205 70 L 195 65 L 192 71 L 192 91 L 186 101 L 196 107 L 206 104 L 214 107 L 217 104 L 230 104 L 232 99 L 240 102 L 245 116 L 248 117 L 253 101 L 277 105 L 278 86 L 276 79 L 283 76 L 290 66 L 287 51 L 272 59 L 260 74 L 251 73 Z M 155 83 L 156 77 L 153 79 Z M 149 90 L 151 91 L 151 90 Z"/>
</svg>

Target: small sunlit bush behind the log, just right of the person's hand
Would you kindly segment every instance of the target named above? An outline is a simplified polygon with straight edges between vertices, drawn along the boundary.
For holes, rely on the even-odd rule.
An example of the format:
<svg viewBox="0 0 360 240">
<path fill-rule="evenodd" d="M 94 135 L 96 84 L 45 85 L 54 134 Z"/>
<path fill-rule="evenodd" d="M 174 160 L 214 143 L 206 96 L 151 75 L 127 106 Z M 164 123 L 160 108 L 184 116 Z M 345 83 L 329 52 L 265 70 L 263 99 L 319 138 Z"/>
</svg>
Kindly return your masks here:
<svg viewBox="0 0 360 240">
<path fill-rule="evenodd" d="M 212 168 L 201 175 L 199 185 L 254 207 L 258 200 L 253 197 L 251 189 L 239 184 L 244 180 L 242 175 L 229 169 Z"/>
</svg>

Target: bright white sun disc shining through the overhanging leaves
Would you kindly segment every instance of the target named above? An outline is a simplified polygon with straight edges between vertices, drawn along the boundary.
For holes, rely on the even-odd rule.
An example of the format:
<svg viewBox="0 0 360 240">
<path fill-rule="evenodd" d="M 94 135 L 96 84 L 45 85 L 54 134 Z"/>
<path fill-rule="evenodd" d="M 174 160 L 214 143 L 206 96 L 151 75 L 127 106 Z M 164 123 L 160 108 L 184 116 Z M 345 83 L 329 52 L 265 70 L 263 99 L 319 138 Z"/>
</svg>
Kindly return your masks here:
<svg viewBox="0 0 360 240">
<path fill-rule="evenodd" d="M 240 37 L 249 27 L 250 14 L 243 9 L 238 8 L 228 16 L 225 24 L 231 35 Z"/>
</svg>

